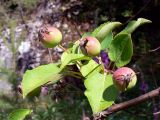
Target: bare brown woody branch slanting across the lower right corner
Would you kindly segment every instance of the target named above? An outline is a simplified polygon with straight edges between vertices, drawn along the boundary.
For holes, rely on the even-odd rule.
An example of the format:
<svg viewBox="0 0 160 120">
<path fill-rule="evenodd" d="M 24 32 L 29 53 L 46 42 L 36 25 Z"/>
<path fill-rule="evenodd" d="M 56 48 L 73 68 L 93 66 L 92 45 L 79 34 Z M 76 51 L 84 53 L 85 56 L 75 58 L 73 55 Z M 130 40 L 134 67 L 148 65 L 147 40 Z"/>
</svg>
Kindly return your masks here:
<svg viewBox="0 0 160 120">
<path fill-rule="evenodd" d="M 126 101 L 126 102 L 123 102 L 123 103 L 119 103 L 119 104 L 115 104 L 115 105 L 109 107 L 108 109 L 100 112 L 99 115 L 97 117 L 95 117 L 95 120 L 102 119 L 102 118 L 104 118 L 104 117 L 106 117 L 106 116 L 108 116 L 108 115 L 110 115 L 114 112 L 127 109 L 131 106 L 138 105 L 138 104 L 140 104 L 144 101 L 147 101 L 148 99 L 157 97 L 159 95 L 160 95 L 160 87 L 155 89 L 155 90 L 152 90 L 149 93 L 146 93 L 146 94 L 141 95 L 137 98 L 134 98 L 132 100 L 129 100 L 129 101 Z"/>
</svg>

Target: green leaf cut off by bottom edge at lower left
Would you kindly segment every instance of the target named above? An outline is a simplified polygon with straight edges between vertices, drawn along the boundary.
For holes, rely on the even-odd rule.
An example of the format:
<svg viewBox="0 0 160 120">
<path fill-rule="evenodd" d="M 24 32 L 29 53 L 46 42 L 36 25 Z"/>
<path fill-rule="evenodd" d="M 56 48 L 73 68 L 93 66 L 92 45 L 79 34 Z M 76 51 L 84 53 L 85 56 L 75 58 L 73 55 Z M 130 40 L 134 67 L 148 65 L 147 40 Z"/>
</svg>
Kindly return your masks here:
<svg viewBox="0 0 160 120">
<path fill-rule="evenodd" d="M 31 114 L 30 109 L 17 109 L 9 114 L 9 120 L 23 120 L 28 114 Z"/>
</svg>

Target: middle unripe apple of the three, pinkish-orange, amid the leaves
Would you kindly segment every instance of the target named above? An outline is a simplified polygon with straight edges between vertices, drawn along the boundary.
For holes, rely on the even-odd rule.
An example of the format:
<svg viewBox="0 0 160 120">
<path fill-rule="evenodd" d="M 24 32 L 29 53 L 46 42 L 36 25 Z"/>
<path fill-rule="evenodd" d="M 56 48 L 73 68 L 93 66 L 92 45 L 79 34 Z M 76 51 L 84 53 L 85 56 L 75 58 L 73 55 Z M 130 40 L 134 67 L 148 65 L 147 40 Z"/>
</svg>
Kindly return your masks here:
<svg viewBox="0 0 160 120">
<path fill-rule="evenodd" d="M 87 36 L 80 41 L 82 53 L 94 57 L 100 54 L 101 44 L 95 37 Z"/>
</svg>

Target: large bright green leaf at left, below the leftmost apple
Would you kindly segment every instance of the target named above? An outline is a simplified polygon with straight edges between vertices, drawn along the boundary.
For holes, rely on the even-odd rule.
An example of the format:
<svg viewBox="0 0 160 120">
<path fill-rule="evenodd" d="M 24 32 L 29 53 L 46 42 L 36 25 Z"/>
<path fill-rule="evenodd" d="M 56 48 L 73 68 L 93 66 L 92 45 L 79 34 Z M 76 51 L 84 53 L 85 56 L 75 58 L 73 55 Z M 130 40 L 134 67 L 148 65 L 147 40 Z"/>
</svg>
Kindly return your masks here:
<svg viewBox="0 0 160 120">
<path fill-rule="evenodd" d="M 42 65 L 33 70 L 27 70 L 22 80 L 23 97 L 48 82 L 57 82 L 62 77 L 60 70 L 57 64 Z"/>
</svg>

